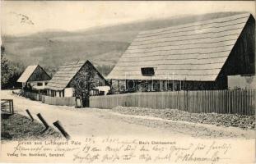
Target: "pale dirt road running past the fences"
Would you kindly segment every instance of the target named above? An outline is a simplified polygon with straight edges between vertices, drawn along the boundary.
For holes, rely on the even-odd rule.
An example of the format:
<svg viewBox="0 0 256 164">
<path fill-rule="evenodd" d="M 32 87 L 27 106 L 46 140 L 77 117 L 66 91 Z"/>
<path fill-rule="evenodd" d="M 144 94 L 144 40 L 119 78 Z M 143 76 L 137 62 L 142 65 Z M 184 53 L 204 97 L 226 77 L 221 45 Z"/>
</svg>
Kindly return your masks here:
<svg viewBox="0 0 256 164">
<path fill-rule="evenodd" d="M 149 116 L 129 116 L 111 110 L 52 106 L 28 98 L 19 97 L 9 90 L 1 91 L 1 98 L 14 99 L 15 112 L 26 115 L 41 113 L 49 125 L 61 121 L 71 136 L 136 135 L 137 137 L 184 137 L 184 138 L 254 138 L 254 130 L 234 127 L 168 121 Z"/>
</svg>

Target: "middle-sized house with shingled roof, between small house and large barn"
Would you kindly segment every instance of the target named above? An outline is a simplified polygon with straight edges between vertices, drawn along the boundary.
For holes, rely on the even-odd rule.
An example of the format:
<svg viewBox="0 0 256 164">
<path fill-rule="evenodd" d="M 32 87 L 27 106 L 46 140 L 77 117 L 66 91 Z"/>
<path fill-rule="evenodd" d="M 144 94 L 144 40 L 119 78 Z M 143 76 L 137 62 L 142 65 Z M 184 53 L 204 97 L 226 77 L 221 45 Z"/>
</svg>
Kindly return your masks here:
<svg viewBox="0 0 256 164">
<path fill-rule="evenodd" d="M 47 84 L 47 95 L 52 97 L 82 97 L 96 87 L 108 85 L 104 76 L 95 69 L 90 61 L 67 62 L 58 68 Z"/>
</svg>

